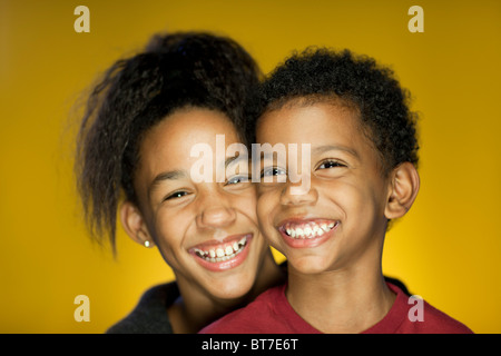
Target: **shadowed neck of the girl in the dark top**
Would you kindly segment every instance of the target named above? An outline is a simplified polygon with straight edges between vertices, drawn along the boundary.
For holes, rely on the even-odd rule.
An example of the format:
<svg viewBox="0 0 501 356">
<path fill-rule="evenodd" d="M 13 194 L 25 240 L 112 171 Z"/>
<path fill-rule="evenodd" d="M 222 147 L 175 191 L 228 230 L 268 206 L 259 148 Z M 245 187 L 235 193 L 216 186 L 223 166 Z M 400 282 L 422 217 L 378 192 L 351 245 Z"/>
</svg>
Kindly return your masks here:
<svg viewBox="0 0 501 356">
<path fill-rule="evenodd" d="M 193 285 L 183 283 L 183 279 L 176 279 L 180 296 L 167 310 L 169 320 L 174 333 L 194 334 L 225 314 L 244 307 L 266 289 L 284 283 L 285 275 L 281 267 L 275 264 L 269 251 L 263 260 L 263 266 L 253 287 L 247 294 L 238 298 L 217 298 L 203 290 L 194 290 Z"/>
</svg>

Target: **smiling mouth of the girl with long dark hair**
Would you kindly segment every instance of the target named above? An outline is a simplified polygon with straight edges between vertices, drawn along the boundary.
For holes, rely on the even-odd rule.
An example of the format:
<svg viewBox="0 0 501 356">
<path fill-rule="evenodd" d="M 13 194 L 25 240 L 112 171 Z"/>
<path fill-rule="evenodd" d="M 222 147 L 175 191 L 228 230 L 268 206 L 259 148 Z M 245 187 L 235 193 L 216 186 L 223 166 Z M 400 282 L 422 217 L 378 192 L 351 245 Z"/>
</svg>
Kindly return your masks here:
<svg viewBox="0 0 501 356">
<path fill-rule="evenodd" d="M 210 240 L 194 246 L 188 253 L 212 271 L 222 271 L 240 265 L 248 255 L 253 234 L 228 236 L 223 241 Z"/>
</svg>

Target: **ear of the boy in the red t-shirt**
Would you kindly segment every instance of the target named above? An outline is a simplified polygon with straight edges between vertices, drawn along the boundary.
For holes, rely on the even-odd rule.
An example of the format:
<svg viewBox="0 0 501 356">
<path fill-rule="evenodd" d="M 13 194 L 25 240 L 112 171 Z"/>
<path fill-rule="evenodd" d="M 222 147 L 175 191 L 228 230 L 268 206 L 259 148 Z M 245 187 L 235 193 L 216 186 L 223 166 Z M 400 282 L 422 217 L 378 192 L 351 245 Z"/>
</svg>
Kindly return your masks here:
<svg viewBox="0 0 501 356">
<path fill-rule="evenodd" d="M 411 162 L 399 165 L 390 175 L 391 187 L 384 216 L 392 220 L 407 212 L 420 190 L 420 175 Z"/>
</svg>

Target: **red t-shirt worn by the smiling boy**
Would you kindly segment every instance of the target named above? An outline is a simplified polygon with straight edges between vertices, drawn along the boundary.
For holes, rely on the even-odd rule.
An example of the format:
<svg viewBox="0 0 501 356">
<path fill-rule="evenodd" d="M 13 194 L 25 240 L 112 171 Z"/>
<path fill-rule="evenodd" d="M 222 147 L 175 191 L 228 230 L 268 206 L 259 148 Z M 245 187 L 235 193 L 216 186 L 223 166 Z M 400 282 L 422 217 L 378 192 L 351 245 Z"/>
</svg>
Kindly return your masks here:
<svg viewBox="0 0 501 356">
<path fill-rule="evenodd" d="M 386 316 L 363 334 L 471 334 L 460 322 L 435 309 L 422 300 L 422 322 L 416 320 L 415 299 L 410 301 L 399 287 L 387 284 L 396 294 Z M 227 314 L 200 330 L 200 334 L 320 334 L 306 323 L 288 304 L 282 285 L 261 294 L 242 309 Z M 411 312 L 410 312 L 411 310 Z M 414 313 L 416 312 L 416 313 Z M 409 316 L 411 314 L 411 317 Z M 411 320 L 414 319 L 414 322 Z"/>
</svg>

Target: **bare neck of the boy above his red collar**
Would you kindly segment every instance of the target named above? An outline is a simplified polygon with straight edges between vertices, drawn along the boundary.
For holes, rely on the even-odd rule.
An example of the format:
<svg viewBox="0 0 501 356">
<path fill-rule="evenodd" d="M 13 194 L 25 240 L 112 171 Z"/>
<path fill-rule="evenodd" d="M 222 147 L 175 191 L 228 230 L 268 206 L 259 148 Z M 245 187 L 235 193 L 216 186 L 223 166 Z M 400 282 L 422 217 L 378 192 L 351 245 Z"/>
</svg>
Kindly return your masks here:
<svg viewBox="0 0 501 356">
<path fill-rule="evenodd" d="M 361 333 L 379 323 L 395 295 L 380 268 L 304 275 L 289 265 L 286 296 L 303 319 L 323 333 Z"/>
</svg>

